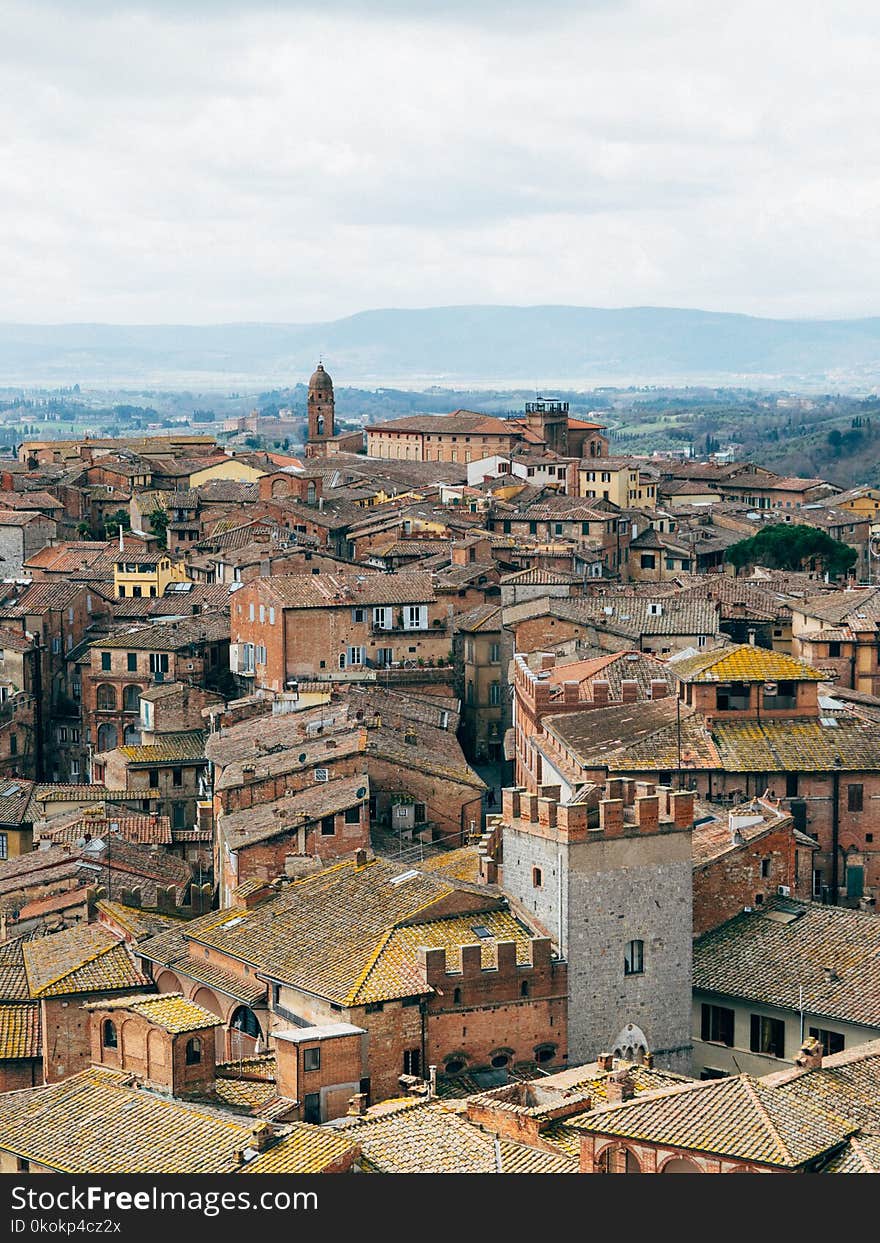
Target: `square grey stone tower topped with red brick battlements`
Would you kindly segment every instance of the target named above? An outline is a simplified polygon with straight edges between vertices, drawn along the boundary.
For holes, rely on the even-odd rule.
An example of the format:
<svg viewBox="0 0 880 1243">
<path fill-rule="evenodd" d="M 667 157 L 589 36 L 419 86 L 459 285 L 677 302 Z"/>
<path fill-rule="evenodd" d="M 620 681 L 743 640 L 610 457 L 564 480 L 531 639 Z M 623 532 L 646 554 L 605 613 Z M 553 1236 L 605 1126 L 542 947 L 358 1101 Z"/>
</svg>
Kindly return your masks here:
<svg viewBox="0 0 880 1243">
<path fill-rule="evenodd" d="M 568 961 L 568 1060 L 691 1069 L 694 794 L 628 778 L 503 792 L 502 884 Z"/>
</svg>

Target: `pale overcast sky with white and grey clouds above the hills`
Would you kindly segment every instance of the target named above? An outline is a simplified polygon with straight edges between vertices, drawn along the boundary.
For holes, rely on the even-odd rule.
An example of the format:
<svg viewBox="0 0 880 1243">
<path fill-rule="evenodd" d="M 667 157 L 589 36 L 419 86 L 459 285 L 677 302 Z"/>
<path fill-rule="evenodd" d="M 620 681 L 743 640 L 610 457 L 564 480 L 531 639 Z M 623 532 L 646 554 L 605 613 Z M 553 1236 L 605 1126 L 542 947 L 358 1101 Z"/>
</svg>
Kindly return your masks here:
<svg viewBox="0 0 880 1243">
<path fill-rule="evenodd" d="M 878 314 L 878 36 L 875 0 L 0 0 L 0 319 Z"/>
</svg>

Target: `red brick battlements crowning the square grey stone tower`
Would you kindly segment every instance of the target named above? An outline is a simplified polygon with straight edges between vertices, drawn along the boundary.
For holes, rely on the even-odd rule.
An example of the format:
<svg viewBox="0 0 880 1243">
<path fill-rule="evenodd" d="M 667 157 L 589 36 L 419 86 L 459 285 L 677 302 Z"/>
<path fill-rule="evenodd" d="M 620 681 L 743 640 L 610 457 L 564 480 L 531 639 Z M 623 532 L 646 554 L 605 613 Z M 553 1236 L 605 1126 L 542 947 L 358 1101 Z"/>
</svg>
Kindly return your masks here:
<svg viewBox="0 0 880 1243">
<path fill-rule="evenodd" d="M 538 793 L 521 787 L 502 791 L 502 824 L 558 842 L 680 833 L 694 827 L 694 792 L 654 782 L 613 777 L 585 787 L 575 802 L 561 803 L 558 786 Z"/>
</svg>

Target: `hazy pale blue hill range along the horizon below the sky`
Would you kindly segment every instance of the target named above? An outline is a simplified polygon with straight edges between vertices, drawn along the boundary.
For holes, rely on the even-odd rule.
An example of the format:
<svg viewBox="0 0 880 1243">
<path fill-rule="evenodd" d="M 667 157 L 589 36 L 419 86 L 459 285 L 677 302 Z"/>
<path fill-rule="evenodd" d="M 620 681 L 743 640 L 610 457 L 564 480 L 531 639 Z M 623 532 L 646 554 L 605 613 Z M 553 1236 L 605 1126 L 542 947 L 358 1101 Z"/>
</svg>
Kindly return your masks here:
<svg viewBox="0 0 880 1243">
<path fill-rule="evenodd" d="M 436 307 L 329 323 L 0 324 L 0 387 L 730 383 L 873 389 L 880 318 L 759 319 L 661 307 Z"/>
</svg>

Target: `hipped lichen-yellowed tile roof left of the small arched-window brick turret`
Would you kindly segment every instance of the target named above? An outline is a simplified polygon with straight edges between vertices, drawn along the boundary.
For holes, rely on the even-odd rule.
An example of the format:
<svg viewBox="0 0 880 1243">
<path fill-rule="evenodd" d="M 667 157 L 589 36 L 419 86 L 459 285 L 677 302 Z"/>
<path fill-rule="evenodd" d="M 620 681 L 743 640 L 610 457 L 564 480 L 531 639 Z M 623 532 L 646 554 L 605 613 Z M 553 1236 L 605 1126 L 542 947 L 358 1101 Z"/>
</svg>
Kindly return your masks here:
<svg viewBox="0 0 880 1243">
<path fill-rule="evenodd" d="M 24 947 L 31 997 L 149 987 L 114 936 L 96 924 L 53 932 Z"/>
</svg>

